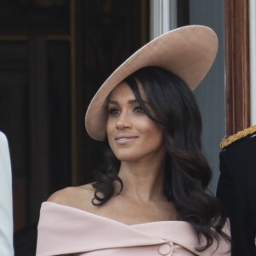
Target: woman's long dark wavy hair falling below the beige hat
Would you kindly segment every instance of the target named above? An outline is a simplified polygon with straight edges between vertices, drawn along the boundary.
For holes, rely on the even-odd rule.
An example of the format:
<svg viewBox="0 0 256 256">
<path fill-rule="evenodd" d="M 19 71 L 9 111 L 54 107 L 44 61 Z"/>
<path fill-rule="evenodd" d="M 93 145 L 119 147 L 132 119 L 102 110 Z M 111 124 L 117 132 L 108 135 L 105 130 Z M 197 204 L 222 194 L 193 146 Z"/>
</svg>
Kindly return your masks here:
<svg viewBox="0 0 256 256">
<path fill-rule="evenodd" d="M 226 215 L 219 201 L 207 190 L 212 172 L 201 152 L 201 114 L 195 97 L 183 79 L 160 67 L 143 67 L 125 79 L 137 102 L 149 119 L 164 127 L 166 165 L 164 194 L 172 201 L 180 220 L 187 221 L 195 230 L 199 245 L 204 236 L 207 244 L 196 247 L 204 251 L 220 236 L 230 242 L 222 228 Z M 142 84 L 148 105 L 145 106 L 138 90 Z M 151 111 L 152 112 L 152 111 Z M 105 162 L 96 172 L 95 198 L 92 203 L 101 206 L 123 188 L 118 177 L 120 162 L 105 141 Z M 120 183 L 115 191 L 114 181 Z M 216 248 L 217 249 L 217 248 Z"/>
</svg>

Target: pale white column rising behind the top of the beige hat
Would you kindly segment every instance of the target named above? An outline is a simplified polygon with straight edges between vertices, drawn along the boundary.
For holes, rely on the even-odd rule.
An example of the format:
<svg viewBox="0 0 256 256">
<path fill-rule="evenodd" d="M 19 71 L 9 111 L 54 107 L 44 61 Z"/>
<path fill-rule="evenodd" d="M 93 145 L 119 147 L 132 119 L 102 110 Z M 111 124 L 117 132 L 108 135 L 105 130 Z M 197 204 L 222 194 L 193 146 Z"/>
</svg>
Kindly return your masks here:
<svg viewBox="0 0 256 256">
<path fill-rule="evenodd" d="M 150 0 L 150 39 L 177 27 L 177 0 Z"/>
</svg>

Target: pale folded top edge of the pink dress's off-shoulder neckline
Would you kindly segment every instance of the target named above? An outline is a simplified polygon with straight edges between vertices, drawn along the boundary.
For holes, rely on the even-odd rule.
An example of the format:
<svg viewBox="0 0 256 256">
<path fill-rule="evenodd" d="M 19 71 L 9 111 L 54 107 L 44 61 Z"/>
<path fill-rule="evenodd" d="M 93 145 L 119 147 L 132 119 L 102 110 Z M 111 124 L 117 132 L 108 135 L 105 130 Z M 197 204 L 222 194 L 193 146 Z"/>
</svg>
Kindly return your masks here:
<svg viewBox="0 0 256 256">
<path fill-rule="evenodd" d="M 55 203 L 53 201 L 44 201 L 42 206 L 43 205 L 47 205 L 47 204 L 49 204 L 49 205 L 52 204 L 52 205 L 55 205 L 57 207 L 65 207 L 65 208 L 70 209 L 72 211 L 78 211 L 78 212 L 87 214 L 89 216 L 92 216 L 94 218 L 102 218 L 102 219 L 111 221 L 111 222 L 116 223 L 116 224 L 123 224 L 125 226 L 131 226 L 131 227 L 136 227 L 136 226 L 141 226 L 141 225 L 150 225 L 150 224 L 174 224 L 174 223 L 175 224 L 177 224 L 177 223 L 179 223 L 179 224 L 189 224 L 187 221 L 183 221 L 183 220 L 160 220 L 160 221 L 151 221 L 151 222 L 145 222 L 145 223 L 140 223 L 140 224 L 125 224 L 125 223 L 119 222 L 118 220 L 115 220 L 113 218 L 108 218 L 108 217 L 104 217 L 102 215 L 97 215 L 96 213 L 84 211 L 84 210 L 76 208 L 76 207 L 70 207 L 70 206 L 67 206 L 67 205 L 61 205 L 61 204 Z"/>
</svg>

